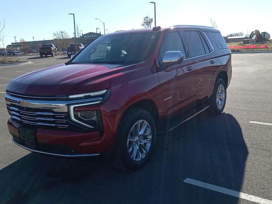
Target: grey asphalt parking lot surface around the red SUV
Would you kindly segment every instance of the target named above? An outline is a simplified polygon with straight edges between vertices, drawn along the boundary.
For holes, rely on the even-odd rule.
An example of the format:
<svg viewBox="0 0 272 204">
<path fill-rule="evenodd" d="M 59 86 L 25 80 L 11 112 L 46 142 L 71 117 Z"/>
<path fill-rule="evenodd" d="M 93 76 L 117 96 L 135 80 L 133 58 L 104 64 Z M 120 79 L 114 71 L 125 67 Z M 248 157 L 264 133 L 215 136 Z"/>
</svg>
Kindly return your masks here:
<svg viewBox="0 0 272 204">
<path fill-rule="evenodd" d="M 68 61 L 20 58 L 34 63 L 0 66 L 0 203 L 272 203 L 272 53 L 233 54 L 224 112 L 203 112 L 159 135 L 151 160 L 134 173 L 96 159 L 31 153 L 11 142 L 6 84 Z"/>
</svg>

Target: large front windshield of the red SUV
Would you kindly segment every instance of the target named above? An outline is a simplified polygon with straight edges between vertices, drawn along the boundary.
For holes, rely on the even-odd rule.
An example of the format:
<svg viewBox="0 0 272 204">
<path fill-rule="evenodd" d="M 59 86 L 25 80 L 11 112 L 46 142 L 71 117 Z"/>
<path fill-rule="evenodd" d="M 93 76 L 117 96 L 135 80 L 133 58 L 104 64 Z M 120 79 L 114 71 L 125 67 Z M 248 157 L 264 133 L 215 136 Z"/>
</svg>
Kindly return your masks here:
<svg viewBox="0 0 272 204">
<path fill-rule="evenodd" d="M 100 37 L 79 53 L 72 63 L 132 64 L 147 59 L 155 33 Z"/>
</svg>

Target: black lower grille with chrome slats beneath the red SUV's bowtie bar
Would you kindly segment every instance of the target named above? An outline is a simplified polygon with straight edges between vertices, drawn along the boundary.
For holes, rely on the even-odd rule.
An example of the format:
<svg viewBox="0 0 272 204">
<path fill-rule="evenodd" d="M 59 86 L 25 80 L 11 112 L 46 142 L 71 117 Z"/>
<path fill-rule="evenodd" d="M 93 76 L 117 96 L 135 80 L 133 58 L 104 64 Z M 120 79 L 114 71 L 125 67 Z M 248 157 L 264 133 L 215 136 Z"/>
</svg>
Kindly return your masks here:
<svg viewBox="0 0 272 204">
<path fill-rule="evenodd" d="M 65 112 L 54 112 L 48 108 L 27 108 L 12 103 L 6 106 L 10 117 L 20 124 L 56 128 L 69 126 Z"/>
</svg>

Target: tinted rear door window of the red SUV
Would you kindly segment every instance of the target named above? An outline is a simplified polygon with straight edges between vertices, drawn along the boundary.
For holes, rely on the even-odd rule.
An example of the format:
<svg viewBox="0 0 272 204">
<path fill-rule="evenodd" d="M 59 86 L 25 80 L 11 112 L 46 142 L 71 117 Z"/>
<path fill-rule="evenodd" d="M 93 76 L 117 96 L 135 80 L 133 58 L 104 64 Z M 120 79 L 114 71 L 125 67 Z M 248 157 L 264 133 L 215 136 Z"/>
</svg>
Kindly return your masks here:
<svg viewBox="0 0 272 204">
<path fill-rule="evenodd" d="M 206 54 L 203 42 L 198 34 L 198 31 L 184 31 L 183 33 L 184 33 L 184 37 L 187 42 L 191 57 Z"/>
</svg>

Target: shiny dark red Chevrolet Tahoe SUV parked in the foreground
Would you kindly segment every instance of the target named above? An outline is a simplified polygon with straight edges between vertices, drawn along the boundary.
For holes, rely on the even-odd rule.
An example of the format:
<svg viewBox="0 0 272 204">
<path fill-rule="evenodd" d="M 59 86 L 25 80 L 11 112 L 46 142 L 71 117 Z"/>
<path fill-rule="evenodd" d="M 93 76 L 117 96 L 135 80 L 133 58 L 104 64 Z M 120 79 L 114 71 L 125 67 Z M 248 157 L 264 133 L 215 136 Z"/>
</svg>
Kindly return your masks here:
<svg viewBox="0 0 272 204">
<path fill-rule="evenodd" d="M 65 64 L 13 79 L 9 132 L 29 151 L 110 153 L 120 168 L 136 170 L 151 157 L 157 131 L 223 111 L 231 73 L 231 52 L 216 29 L 118 31 Z"/>
</svg>

